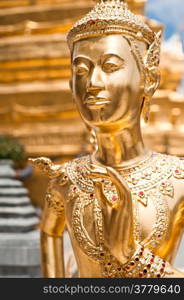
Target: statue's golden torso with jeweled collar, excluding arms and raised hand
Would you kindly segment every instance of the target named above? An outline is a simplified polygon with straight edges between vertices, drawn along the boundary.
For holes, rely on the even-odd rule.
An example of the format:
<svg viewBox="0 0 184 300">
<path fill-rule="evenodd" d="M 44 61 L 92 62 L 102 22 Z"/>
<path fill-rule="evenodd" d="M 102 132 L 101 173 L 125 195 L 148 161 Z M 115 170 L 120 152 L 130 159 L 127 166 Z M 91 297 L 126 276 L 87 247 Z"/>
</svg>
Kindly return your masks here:
<svg viewBox="0 0 184 300">
<path fill-rule="evenodd" d="M 55 200 L 55 190 L 49 190 L 48 210 L 58 216 L 64 211 L 81 277 L 134 277 L 134 274 L 122 270 L 122 265 L 105 245 L 105 215 L 95 195 L 90 170 L 90 156 L 66 163 L 62 174 L 54 179 L 59 187 L 60 200 Z M 132 194 L 134 240 L 172 263 L 183 233 L 184 161 L 150 152 L 146 160 L 119 169 L 118 173 Z M 116 203 L 118 192 L 115 185 L 110 179 L 100 180 L 107 203 Z M 48 214 L 45 219 L 48 224 Z M 42 228 L 47 231 L 44 222 L 43 219 Z"/>
</svg>

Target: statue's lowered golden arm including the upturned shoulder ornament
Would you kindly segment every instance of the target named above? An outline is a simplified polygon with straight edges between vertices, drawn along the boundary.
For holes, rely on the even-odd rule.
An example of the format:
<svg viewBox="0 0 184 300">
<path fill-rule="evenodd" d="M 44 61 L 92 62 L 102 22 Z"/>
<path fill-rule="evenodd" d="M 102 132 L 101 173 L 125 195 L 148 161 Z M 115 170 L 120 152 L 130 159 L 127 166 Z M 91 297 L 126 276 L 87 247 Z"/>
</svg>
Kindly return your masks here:
<svg viewBox="0 0 184 300">
<path fill-rule="evenodd" d="M 63 232 L 65 228 L 64 199 L 61 186 L 65 184 L 65 168 L 49 158 L 30 158 L 29 162 L 51 178 L 45 197 L 41 221 L 40 248 L 44 277 L 64 277 Z M 58 182 L 59 180 L 59 182 Z"/>
</svg>

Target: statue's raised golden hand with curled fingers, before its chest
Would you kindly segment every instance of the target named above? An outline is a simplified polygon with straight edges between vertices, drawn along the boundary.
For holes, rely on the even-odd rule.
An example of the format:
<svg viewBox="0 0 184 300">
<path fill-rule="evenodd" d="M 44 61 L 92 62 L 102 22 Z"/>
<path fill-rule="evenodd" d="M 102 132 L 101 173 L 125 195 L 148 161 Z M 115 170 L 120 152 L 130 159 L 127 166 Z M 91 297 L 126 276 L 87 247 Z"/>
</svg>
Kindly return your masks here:
<svg viewBox="0 0 184 300">
<path fill-rule="evenodd" d="M 93 179 L 95 194 L 102 209 L 105 244 L 116 258 L 126 262 L 135 251 L 130 189 L 123 177 L 110 167 L 95 167 L 89 176 Z M 107 199 L 102 179 L 108 179 L 116 187 L 118 197 L 115 203 Z"/>
</svg>

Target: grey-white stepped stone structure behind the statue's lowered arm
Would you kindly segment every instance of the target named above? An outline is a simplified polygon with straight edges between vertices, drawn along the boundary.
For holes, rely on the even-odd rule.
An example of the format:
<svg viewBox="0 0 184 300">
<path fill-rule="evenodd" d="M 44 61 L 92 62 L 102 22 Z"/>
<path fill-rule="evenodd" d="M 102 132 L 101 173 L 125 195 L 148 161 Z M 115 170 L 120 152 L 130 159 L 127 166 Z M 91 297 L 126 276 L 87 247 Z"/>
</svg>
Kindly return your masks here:
<svg viewBox="0 0 184 300">
<path fill-rule="evenodd" d="M 0 159 L 0 277 L 40 277 L 39 218 L 13 165 Z"/>
</svg>

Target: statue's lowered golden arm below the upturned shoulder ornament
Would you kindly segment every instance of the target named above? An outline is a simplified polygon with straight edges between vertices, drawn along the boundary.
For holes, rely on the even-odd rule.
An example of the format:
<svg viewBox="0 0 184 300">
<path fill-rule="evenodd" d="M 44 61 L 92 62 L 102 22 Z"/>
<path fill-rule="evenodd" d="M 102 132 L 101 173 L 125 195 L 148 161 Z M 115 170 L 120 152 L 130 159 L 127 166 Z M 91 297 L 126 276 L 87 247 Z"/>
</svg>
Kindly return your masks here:
<svg viewBox="0 0 184 300">
<path fill-rule="evenodd" d="M 57 180 L 49 182 L 41 222 L 40 247 L 43 277 L 64 277 L 63 232 L 65 213 Z"/>
</svg>

